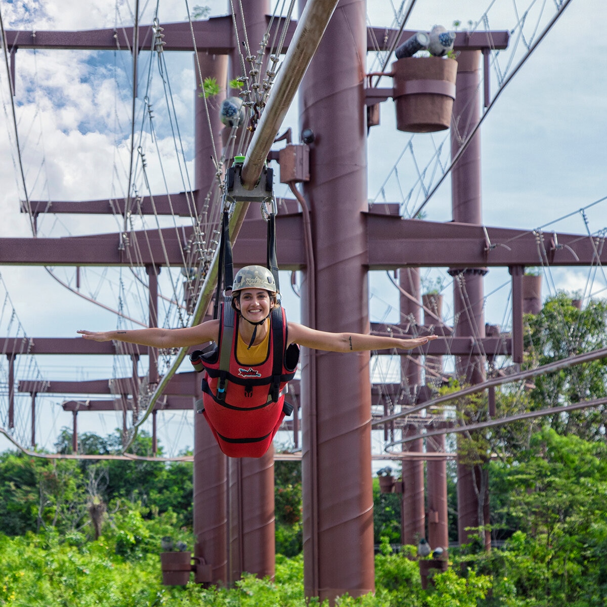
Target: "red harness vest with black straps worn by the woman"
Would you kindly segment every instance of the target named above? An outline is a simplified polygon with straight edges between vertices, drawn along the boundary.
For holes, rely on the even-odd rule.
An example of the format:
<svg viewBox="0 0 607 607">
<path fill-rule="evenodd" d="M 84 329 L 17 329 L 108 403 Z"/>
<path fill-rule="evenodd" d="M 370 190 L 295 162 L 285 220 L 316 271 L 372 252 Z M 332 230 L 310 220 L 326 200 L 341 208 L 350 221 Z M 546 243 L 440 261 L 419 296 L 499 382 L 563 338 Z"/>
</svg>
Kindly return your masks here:
<svg viewBox="0 0 607 607">
<path fill-rule="evenodd" d="M 231 310 L 228 310 L 228 313 Z M 285 403 L 287 382 L 293 379 L 299 362 L 299 346 L 287 343 L 287 317 L 282 307 L 271 313 L 268 355 L 259 365 L 241 365 L 236 359 L 238 314 L 234 311 L 229 369 L 220 369 L 223 337 L 223 313 L 220 320 L 219 344 L 209 353 L 197 350 L 190 360 L 197 371 L 205 370 L 203 398 L 197 402 L 223 453 L 229 457 L 261 457 L 270 449 L 272 439 L 285 415 L 293 406 Z M 217 387 L 225 378 L 223 398 Z"/>
</svg>

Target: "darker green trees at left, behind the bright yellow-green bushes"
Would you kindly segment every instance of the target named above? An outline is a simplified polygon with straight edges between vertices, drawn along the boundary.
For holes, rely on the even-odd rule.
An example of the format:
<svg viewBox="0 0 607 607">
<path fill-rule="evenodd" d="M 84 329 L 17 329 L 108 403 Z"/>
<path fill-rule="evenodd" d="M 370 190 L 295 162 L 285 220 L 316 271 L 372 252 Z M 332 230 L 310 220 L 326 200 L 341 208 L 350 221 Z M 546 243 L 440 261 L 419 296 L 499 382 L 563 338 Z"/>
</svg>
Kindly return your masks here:
<svg viewBox="0 0 607 607">
<path fill-rule="evenodd" d="M 65 438 L 65 437 L 64 437 Z M 87 454 L 120 449 L 117 437 L 83 435 Z M 71 437 L 66 443 L 70 445 Z M 135 445 L 151 451 L 144 433 Z M 0 453 L 0 533 L 24 535 L 55 529 L 60 534 L 98 535 L 104 515 L 138 503 L 146 516 L 175 514 L 179 527 L 192 526 L 192 464 L 153 461 L 44 459 Z"/>
</svg>

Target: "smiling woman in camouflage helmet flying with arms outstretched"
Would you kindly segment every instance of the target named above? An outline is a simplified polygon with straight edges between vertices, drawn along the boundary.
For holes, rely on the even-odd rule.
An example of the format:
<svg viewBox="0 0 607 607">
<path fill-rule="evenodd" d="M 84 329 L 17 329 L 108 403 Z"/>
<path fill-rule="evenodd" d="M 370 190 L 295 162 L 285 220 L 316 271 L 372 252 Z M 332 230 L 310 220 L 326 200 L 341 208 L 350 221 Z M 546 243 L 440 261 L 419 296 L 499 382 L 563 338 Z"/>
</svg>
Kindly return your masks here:
<svg viewBox="0 0 607 607">
<path fill-rule="evenodd" d="M 84 339 L 121 341 L 153 348 L 187 348 L 206 342 L 211 352 L 191 354 L 197 370 L 205 370 L 205 415 L 223 453 L 230 457 L 261 457 L 272 443 L 283 418 L 293 407 L 285 403 L 287 382 L 299 362 L 299 346 L 330 352 L 359 352 L 399 348 L 411 350 L 435 335 L 399 339 L 362 333 L 330 333 L 290 322 L 278 299 L 273 273 L 263 266 L 245 266 L 234 277 L 231 307 L 220 319 L 195 327 L 145 328 L 130 331 L 80 330 Z M 228 322 L 226 322 L 228 321 Z M 231 335 L 226 330 L 232 321 Z M 222 345 L 229 356 L 221 369 Z"/>
</svg>

